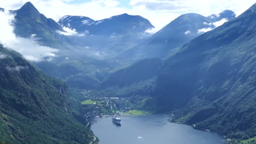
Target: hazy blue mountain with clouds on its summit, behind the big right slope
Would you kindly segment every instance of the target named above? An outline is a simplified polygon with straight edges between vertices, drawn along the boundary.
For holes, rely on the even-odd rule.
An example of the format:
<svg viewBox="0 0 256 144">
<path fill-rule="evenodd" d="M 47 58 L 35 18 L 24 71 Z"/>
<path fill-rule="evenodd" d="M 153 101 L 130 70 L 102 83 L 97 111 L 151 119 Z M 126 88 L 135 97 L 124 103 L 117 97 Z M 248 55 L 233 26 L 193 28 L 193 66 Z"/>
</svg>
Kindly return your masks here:
<svg viewBox="0 0 256 144">
<path fill-rule="evenodd" d="M 131 61 L 144 58 L 165 58 L 175 53 L 182 45 L 202 34 L 201 31 L 216 27 L 217 21 L 235 18 L 233 11 L 225 10 L 219 14 L 205 17 L 197 13 L 179 16 L 155 33 L 149 40 L 123 52 L 117 59 Z"/>
</svg>

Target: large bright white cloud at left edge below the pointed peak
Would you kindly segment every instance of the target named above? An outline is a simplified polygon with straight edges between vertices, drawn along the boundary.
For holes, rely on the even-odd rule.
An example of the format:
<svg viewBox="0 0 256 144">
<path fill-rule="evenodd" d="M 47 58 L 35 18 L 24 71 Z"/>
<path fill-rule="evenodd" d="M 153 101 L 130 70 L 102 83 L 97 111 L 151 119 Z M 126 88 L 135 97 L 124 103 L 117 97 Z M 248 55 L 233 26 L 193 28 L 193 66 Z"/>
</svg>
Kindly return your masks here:
<svg viewBox="0 0 256 144">
<path fill-rule="evenodd" d="M 1 11 L 0 19 L 0 43 L 4 47 L 12 48 L 21 53 L 29 61 L 44 61 L 56 56 L 55 52 L 58 50 L 39 45 L 37 41 L 33 40 L 33 37 L 36 36 L 35 34 L 32 34 L 30 38 L 16 36 L 13 32 L 14 15 L 7 11 Z"/>
</svg>

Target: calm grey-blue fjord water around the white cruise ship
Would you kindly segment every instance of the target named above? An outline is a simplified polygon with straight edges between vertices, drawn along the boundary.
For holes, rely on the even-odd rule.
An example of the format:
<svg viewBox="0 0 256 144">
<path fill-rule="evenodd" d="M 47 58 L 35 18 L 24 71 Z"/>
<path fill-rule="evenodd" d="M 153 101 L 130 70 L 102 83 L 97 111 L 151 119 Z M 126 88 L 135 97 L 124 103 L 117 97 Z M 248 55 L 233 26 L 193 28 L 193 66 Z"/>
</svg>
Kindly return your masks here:
<svg viewBox="0 0 256 144">
<path fill-rule="evenodd" d="M 91 129 L 99 144 L 224 144 L 222 136 L 170 123 L 168 118 L 168 115 L 123 116 L 122 126 L 112 123 L 112 117 L 99 118 Z"/>
</svg>

